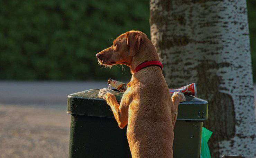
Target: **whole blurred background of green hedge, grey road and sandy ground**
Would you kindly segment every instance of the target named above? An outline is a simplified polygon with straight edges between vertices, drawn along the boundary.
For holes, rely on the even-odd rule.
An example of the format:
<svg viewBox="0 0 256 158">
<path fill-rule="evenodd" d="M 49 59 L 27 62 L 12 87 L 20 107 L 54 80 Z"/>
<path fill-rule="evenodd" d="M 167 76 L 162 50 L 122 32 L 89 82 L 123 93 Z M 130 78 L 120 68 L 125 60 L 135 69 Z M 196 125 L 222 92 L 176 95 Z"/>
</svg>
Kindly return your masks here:
<svg viewBox="0 0 256 158">
<path fill-rule="evenodd" d="M 256 1 L 247 8 L 256 83 Z M 129 30 L 150 38 L 148 0 L 0 1 L 0 157 L 67 157 L 66 96 L 130 79 L 95 57 Z"/>
</svg>

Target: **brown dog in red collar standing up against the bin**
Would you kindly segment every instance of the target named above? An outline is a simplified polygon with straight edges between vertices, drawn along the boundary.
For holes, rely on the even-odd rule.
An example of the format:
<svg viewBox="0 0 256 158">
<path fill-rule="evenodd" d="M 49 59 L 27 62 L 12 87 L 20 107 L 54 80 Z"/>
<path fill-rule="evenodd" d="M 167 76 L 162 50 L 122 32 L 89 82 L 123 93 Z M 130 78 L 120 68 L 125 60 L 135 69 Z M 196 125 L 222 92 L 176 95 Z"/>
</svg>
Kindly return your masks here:
<svg viewBox="0 0 256 158">
<path fill-rule="evenodd" d="M 101 89 L 99 97 L 106 99 L 118 126 L 127 124 L 127 138 L 134 158 L 173 157 L 174 124 L 183 93 L 168 91 L 161 68 L 148 66 L 135 73 L 136 67 L 145 61 L 159 61 L 158 54 L 146 34 L 129 31 L 121 34 L 110 48 L 96 55 L 100 64 L 125 64 L 132 74 L 120 105 L 115 95 Z"/>
</svg>

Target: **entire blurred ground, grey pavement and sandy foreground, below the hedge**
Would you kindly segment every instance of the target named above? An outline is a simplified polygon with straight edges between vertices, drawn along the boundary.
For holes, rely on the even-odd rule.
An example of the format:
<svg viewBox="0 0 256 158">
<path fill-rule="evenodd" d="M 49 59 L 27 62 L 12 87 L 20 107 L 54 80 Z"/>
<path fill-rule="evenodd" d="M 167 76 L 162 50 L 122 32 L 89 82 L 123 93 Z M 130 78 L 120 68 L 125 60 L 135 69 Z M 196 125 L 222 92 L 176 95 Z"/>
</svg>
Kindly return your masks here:
<svg viewBox="0 0 256 158">
<path fill-rule="evenodd" d="M 0 157 L 67 157 L 66 96 L 103 87 L 105 82 L 1 81 Z"/>
</svg>

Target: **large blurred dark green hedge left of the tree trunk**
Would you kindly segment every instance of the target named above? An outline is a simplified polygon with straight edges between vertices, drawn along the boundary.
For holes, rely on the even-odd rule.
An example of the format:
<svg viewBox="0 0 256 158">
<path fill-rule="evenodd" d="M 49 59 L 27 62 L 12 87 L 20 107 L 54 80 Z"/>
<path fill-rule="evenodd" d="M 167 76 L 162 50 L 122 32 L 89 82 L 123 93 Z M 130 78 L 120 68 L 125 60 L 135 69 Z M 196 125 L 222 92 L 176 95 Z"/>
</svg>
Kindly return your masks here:
<svg viewBox="0 0 256 158">
<path fill-rule="evenodd" d="M 102 69 L 95 54 L 126 31 L 149 36 L 148 19 L 148 0 L 1 1 L 0 79 L 130 78 L 129 69 Z"/>
</svg>

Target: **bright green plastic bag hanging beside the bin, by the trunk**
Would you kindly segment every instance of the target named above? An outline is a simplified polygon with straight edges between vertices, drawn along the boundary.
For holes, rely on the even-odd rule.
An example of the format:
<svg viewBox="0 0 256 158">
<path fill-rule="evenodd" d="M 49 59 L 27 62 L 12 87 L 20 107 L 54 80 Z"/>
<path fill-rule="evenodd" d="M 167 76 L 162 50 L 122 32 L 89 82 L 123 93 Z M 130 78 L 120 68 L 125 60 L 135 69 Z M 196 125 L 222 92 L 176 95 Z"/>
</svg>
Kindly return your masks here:
<svg viewBox="0 0 256 158">
<path fill-rule="evenodd" d="M 209 147 L 208 147 L 208 144 L 207 144 L 211 135 L 212 135 L 212 132 L 203 127 L 200 158 L 211 158 L 210 150 L 209 150 Z"/>
</svg>

